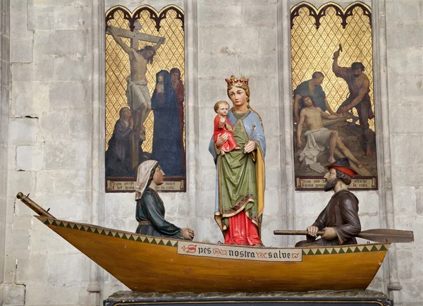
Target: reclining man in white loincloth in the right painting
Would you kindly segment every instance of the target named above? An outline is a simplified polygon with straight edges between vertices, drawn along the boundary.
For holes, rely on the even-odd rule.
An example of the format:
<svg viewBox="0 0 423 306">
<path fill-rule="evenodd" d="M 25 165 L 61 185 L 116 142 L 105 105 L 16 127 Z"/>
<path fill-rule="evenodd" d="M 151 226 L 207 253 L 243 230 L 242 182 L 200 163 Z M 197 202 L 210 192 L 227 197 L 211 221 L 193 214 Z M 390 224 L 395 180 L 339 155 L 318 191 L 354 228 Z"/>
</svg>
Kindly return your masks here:
<svg viewBox="0 0 423 306">
<path fill-rule="evenodd" d="M 337 119 L 340 117 L 345 117 L 343 114 L 334 114 L 329 115 L 324 112 L 320 107 L 314 104 L 312 97 L 302 97 L 300 99 L 300 105 L 302 106 L 300 110 L 300 122 L 297 127 L 297 146 L 302 147 L 301 134 L 302 134 L 302 124 L 306 123 L 308 128 L 305 132 L 307 137 L 307 142 L 305 148 L 300 153 L 300 161 L 305 159 L 305 163 L 313 164 L 317 160 L 317 155 L 319 152 L 323 152 L 326 147 L 329 147 L 329 163 L 335 162 L 333 157 L 333 152 L 335 147 L 341 149 L 341 152 L 345 154 L 345 157 L 348 157 L 351 161 L 357 164 L 358 168 L 369 165 L 367 162 L 358 161 L 354 155 L 350 152 L 348 147 L 346 147 L 341 140 L 341 137 L 338 136 L 337 130 L 329 130 L 324 128 L 321 118 L 326 119 Z"/>
</svg>

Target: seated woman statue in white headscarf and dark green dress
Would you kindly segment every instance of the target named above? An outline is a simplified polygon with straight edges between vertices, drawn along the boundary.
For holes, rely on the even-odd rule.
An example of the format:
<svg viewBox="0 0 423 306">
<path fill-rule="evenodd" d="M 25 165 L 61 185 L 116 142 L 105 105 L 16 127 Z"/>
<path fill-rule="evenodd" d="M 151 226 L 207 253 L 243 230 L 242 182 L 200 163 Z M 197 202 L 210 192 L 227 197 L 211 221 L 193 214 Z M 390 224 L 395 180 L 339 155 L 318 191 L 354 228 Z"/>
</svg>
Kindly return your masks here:
<svg viewBox="0 0 423 306">
<path fill-rule="evenodd" d="M 179 228 L 164 219 L 164 203 L 157 193 L 157 186 L 164 183 L 164 172 L 154 160 L 144 161 L 138 167 L 135 184 L 135 201 L 137 209 L 135 218 L 138 221 L 136 233 L 155 237 L 192 240 L 192 228 Z"/>
</svg>

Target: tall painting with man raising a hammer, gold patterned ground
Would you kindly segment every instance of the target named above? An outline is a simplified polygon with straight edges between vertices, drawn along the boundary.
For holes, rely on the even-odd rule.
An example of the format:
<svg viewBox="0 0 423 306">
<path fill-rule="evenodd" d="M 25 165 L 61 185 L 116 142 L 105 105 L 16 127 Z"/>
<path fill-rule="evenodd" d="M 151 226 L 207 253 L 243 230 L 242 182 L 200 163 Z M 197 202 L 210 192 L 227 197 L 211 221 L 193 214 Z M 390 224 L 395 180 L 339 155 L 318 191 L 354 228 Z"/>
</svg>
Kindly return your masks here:
<svg viewBox="0 0 423 306">
<path fill-rule="evenodd" d="M 358 173 L 349 188 L 377 189 L 369 6 L 301 2 L 290 20 L 295 189 L 322 190 L 342 157 Z"/>
</svg>

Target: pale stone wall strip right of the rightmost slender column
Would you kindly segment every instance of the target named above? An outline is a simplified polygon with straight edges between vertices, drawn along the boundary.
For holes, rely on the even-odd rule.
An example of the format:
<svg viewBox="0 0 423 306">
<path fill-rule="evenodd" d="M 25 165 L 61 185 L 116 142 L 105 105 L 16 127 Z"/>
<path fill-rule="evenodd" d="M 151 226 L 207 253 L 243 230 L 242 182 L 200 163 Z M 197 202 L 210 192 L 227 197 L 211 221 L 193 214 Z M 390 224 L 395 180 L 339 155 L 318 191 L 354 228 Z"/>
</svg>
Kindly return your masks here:
<svg viewBox="0 0 423 306">
<path fill-rule="evenodd" d="M 423 1 L 386 1 L 386 74 L 394 226 L 415 231 L 398 244 L 403 305 L 422 304 L 423 286 Z"/>
</svg>

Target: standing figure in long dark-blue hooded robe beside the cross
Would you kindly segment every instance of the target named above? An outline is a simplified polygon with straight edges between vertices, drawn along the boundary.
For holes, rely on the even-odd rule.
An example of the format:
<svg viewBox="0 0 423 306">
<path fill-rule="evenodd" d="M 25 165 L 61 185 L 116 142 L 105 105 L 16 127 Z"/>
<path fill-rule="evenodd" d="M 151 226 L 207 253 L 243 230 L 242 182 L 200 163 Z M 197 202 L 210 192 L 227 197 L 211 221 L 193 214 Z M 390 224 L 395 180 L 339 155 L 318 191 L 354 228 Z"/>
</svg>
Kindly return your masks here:
<svg viewBox="0 0 423 306">
<path fill-rule="evenodd" d="M 152 95 L 154 114 L 152 159 L 159 161 L 167 176 L 183 176 L 183 144 L 180 140 L 178 98 L 168 71 L 156 75 Z"/>
</svg>

